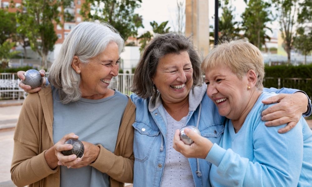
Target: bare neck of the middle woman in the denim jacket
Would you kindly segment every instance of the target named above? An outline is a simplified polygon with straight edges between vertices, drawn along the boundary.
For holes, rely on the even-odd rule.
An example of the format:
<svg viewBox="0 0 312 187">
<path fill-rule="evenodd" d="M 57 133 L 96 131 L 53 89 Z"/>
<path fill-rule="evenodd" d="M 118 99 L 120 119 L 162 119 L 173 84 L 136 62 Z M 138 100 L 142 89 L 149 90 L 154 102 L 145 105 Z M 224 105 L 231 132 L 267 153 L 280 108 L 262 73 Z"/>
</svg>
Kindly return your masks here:
<svg viewBox="0 0 312 187">
<path fill-rule="evenodd" d="M 166 102 L 162 99 L 163 107 L 170 114 L 170 116 L 176 121 L 180 121 L 183 117 L 188 115 L 189 103 L 188 97 L 178 103 Z"/>
</svg>

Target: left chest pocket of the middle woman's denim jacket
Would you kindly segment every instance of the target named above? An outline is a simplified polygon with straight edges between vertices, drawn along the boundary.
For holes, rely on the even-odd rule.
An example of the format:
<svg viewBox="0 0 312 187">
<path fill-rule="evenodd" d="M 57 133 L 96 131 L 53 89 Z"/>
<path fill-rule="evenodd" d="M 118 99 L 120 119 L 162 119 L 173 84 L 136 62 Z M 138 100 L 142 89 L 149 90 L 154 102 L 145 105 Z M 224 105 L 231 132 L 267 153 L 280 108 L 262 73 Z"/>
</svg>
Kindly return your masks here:
<svg viewBox="0 0 312 187">
<path fill-rule="evenodd" d="M 160 133 L 144 122 L 134 122 L 133 152 L 136 161 L 144 162 L 149 158 L 154 143 Z"/>
</svg>

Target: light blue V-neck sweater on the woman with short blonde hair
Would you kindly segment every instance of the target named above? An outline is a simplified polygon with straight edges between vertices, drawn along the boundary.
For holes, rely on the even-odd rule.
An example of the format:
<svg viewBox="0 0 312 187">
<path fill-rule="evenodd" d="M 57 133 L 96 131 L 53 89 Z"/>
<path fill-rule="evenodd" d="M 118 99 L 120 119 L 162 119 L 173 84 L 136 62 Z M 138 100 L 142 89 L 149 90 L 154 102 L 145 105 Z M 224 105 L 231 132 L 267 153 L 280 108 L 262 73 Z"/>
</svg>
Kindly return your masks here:
<svg viewBox="0 0 312 187">
<path fill-rule="evenodd" d="M 312 131 L 303 117 L 285 134 L 277 132 L 282 126 L 266 127 L 261 112 L 272 104 L 261 100 L 272 95 L 260 95 L 239 132 L 227 120 L 205 159 L 212 186 L 312 186 Z"/>
</svg>

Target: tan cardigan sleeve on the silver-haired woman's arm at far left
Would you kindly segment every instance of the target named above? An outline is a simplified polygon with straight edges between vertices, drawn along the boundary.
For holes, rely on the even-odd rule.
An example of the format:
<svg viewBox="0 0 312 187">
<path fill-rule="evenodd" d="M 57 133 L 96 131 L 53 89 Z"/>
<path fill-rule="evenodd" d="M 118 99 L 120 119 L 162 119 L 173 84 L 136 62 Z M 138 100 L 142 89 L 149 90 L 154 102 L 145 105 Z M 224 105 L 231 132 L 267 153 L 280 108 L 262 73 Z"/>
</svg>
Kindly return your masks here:
<svg viewBox="0 0 312 187">
<path fill-rule="evenodd" d="M 25 99 L 14 133 L 14 150 L 11 178 L 15 185 L 26 186 L 35 183 L 58 170 L 51 170 L 44 153 L 40 153 L 40 125 L 43 115 L 38 93 Z"/>
</svg>

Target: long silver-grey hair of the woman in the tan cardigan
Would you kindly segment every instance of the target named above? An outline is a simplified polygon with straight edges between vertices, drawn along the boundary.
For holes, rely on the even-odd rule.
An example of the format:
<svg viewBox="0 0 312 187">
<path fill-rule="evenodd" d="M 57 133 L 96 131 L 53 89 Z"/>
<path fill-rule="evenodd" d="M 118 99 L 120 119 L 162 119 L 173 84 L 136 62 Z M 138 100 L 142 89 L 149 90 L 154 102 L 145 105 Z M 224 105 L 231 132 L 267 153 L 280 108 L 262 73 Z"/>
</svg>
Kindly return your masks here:
<svg viewBox="0 0 312 187">
<path fill-rule="evenodd" d="M 74 56 L 86 64 L 103 52 L 111 41 L 116 42 L 120 54 L 124 40 L 114 27 L 105 22 L 81 22 L 71 30 L 49 70 L 49 81 L 58 89 L 61 103 L 67 104 L 81 98 L 80 74 L 71 67 Z"/>
</svg>

